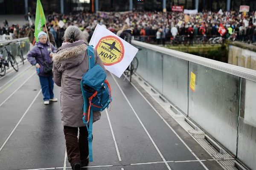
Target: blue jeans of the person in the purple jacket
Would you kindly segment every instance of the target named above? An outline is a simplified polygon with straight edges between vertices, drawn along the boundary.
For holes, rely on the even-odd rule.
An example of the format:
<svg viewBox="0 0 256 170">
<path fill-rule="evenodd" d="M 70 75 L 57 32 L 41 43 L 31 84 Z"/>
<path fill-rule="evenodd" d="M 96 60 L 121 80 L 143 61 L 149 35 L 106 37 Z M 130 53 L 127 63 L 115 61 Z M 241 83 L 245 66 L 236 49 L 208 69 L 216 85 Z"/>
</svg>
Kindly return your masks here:
<svg viewBox="0 0 256 170">
<path fill-rule="evenodd" d="M 53 80 L 52 75 L 48 77 L 39 76 L 42 93 L 44 95 L 44 101 L 52 99 L 54 97 L 53 94 Z"/>
</svg>

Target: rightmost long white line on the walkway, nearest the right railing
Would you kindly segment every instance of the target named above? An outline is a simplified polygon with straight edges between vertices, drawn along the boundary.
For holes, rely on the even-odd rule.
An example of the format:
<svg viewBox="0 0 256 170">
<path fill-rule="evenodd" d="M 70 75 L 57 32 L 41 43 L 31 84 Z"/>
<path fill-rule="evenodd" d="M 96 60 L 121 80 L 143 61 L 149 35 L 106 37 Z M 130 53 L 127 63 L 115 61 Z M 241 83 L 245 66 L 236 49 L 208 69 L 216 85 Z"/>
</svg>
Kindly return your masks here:
<svg viewBox="0 0 256 170">
<path fill-rule="evenodd" d="M 112 74 L 111 74 L 112 75 Z M 112 75 L 113 77 L 113 75 Z M 128 80 L 128 79 L 127 79 Z M 128 80 L 129 81 L 129 80 Z M 180 139 L 180 141 L 186 146 L 186 148 L 192 153 L 192 155 L 195 157 L 195 159 L 197 159 L 200 164 L 204 167 L 204 169 L 209 170 L 205 164 L 198 158 L 198 156 L 195 155 L 195 153 L 190 149 L 190 147 L 183 141 L 183 139 L 181 139 L 181 137 L 175 132 L 175 130 L 169 125 L 168 122 L 166 122 L 166 120 L 163 118 L 162 115 L 160 115 L 160 113 L 154 108 L 154 106 L 148 101 L 148 99 L 145 98 L 145 96 L 143 96 L 143 94 L 139 91 L 139 89 L 131 82 L 131 85 L 139 92 L 139 94 L 143 97 L 143 99 L 145 99 L 145 101 L 148 103 L 148 105 L 151 106 L 151 108 L 153 108 L 153 110 L 158 114 L 158 116 L 160 116 L 160 118 L 163 120 L 163 122 L 166 123 L 166 125 L 172 130 L 173 133 L 175 133 L 175 135 Z"/>
</svg>

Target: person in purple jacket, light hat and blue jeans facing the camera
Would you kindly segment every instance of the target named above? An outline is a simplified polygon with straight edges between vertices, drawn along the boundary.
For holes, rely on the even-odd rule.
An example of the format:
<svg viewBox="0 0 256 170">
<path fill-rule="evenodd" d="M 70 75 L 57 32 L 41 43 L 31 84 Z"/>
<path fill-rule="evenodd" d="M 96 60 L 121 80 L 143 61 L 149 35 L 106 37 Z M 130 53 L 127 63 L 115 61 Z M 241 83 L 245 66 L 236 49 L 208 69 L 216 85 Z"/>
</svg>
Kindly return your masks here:
<svg viewBox="0 0 256 170">
<path fill-rule="evenodd" d="M 37 74 L 39 76 L 42 94 L 44 96 L 44 104 L 49 105 L 49 101 L 57 102 L 58 99 L 54 97 L 53 94 L 53 80 L 52 73 L 45 73 L 44 67 L 45 63 L 47 65 L 52 65 L 52 54 L 57 50 L 56 48 L 47 40 L 47 34 L 44 31 L 39 32 L 38 42 L 27 54 L 28 61 L 35 65 Z M 45 63 L 44 63 L 45 62 Z"/>
</svg>

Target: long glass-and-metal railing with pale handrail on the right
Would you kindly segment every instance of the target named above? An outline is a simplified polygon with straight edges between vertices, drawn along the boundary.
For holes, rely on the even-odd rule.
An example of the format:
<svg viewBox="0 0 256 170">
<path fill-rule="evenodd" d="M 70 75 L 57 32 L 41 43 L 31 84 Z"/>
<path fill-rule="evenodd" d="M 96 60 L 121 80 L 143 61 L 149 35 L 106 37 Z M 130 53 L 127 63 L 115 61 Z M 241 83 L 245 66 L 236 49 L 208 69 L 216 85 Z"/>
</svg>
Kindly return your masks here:
<svg viewBox="0 0 256 170">
<path fill-rule="evenodd" d="M 142 49 L 137 74 L 256 170 L 256 71 L 135 40 L 132 44 Z"/>
</svg>

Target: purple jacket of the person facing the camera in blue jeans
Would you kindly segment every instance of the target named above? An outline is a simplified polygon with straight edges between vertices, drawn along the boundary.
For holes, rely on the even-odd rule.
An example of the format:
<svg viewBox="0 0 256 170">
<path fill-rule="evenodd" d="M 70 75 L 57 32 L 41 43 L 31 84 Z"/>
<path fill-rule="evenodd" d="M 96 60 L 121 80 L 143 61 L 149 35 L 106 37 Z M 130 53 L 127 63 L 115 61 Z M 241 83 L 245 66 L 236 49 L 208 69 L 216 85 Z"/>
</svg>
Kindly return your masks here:
<svg viewBox="0 0 256 170">
<path fill-rule="evenodd" d="M 51 46 L 52 46 L 52 52 L 55 53 L 57 51 L 56 48 L 52 44 Z M 40 41 L 37 42 L 35 46 L 32 48 L 32 50 L 28 52 L 26 57 L 32 65 L 35 65 L 36 63 L 38 63 L 41 66 L 38 76 L 47 77 L 49 76 L 49 74 L 44 73 L 44 60 L 42 58 L 40 48 L 41 48 L 42 54 L 44 55 L 45 62 L 48 64 L 52 64 L 52 58 L 49 56 L 50 45 L 48 41 L 46 44 L 43 44 Z"/>
</svg>

